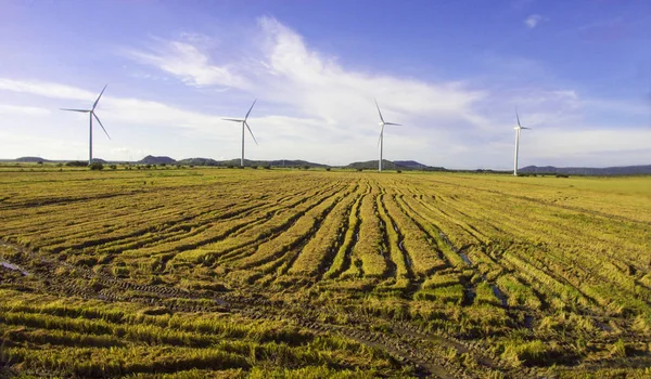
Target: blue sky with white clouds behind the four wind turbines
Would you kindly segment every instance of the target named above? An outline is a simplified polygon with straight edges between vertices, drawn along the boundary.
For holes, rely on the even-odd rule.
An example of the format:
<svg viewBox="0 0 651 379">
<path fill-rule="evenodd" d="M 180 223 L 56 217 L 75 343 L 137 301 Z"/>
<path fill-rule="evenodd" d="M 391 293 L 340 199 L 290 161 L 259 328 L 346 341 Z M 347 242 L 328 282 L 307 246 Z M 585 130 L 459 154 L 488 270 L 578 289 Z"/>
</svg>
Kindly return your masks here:
<svg viewBox="0 0 651 379">
<path fill-rule="evenodd" d="M 651 1 L 0 2 L 0 158 L 651 164 Z"/>
</svg>

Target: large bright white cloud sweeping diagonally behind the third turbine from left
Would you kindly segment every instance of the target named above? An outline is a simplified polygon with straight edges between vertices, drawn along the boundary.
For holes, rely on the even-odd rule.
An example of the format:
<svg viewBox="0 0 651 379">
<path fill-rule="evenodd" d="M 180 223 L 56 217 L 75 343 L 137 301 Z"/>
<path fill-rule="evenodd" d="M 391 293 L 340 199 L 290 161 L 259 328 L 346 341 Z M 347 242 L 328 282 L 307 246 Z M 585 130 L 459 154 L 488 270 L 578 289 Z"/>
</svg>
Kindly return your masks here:
<svg viewBox="0 0 651 379">
<path fill-rule="evenodd" d="M 424 116 L 481 119 L 473 114 L 472 104 L 486 93 L 464 82 L 434 83 L 347 70 L 336 63 L 336 57 L 310 50 L 302 36 L 275 18 L 259 18 L 258 27 L 258 37 L 264 42 L 250 42 L 246 55 L 232 57 L 220 66 L 189 41 L 159 41 L 168 47 L 164 54 L 131 48 L 128 56 L 173 74 L 188 84 L 226 86 L 244 91 L 284 105 L 296 117 L 316 117 L 340 130 L 350 125 L 373 126 L 376 117 L 373 97 L 378 97 L 386 112 L 405 121 Z"/>
</svg>

